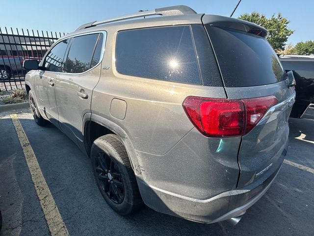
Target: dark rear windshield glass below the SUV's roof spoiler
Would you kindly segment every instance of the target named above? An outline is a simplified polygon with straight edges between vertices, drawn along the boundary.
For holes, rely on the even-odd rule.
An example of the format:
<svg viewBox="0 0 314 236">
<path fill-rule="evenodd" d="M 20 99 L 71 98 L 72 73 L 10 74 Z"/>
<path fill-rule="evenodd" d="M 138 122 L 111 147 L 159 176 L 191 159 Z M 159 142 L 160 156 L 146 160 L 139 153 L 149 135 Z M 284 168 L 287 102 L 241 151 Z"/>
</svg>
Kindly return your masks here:
<svg viewBox="0 0 314 236">
<path fill-rule="evenodd" d="M 279 59 L 261 36 L 206 26 L 226 87 L 273 84 L 286 76 Z"/>
</svg>

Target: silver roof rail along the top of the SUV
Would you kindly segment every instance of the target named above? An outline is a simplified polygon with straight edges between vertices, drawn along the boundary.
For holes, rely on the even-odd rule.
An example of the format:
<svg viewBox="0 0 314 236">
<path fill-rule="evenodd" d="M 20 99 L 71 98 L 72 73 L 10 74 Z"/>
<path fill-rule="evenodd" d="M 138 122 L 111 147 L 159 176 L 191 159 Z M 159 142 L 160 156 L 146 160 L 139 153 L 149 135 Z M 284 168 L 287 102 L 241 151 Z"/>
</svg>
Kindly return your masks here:
<svg viewBox="0 0 314 236">
<path fill-rule="evenodd" d="M 133 18 L 144 17 L 144 16 L 154 16 L 154 15 L 177 16 L 177 15 L 185 15 L 185 14 L 196 14 L 196 11 L 184 5 L 168 6 L 168 7 L 156 8 L 155 10 L 150 10 L 150 11 L 140 11 L 134 14 L 114 17 L 107 20 L 103 20 L 103 21 L 94 21 L 94 22 L 86 23 L 78 27 L 77 30 L 86 29 L 93 26 L 99 26 L 99 25 L 103 25 L 103 24 L 107 24 L 111 22 L 116 22 L 116 21 L 123 21 L 123 20 L 128 20 L 128 19 L 133 19 Z"/>
</svg>

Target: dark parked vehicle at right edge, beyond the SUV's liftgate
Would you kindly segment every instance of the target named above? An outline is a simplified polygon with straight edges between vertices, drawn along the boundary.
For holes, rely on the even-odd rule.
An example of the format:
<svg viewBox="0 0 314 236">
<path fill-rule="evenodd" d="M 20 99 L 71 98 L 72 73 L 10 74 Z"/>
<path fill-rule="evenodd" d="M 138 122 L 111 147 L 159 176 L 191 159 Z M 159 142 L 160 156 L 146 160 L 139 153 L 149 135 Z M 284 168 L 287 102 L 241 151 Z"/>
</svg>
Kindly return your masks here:
<svg viewBox="0 0 314 236">
<path fill-rule="evenodd" d="M 307 109 L 314 109 L 314 56 L 285 55 L 279 59 L 286 71 L 293 71 L 296 81 L 290 117 L 302 118 Z"/>
</svg>

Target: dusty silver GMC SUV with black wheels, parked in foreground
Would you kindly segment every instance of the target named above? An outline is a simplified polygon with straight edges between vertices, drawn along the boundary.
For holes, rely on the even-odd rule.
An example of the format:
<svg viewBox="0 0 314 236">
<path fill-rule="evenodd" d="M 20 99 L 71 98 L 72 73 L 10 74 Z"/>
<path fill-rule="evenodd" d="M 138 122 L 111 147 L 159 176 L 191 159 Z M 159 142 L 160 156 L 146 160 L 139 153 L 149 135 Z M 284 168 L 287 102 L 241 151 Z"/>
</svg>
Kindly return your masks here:
<svg viewBox="0 0 314 236">
<path fill-rule="evenodd" d="M 153 15 L 162 16 L 142 18 Z M 90 156 L 118 213 L 144 202 L 235 223 L 270 187 L 288 147 L 293 75 L 267 34 L 187 6 L 91 22 L 39 64 L 25 61 L 31 111 Z"/>
</svg>

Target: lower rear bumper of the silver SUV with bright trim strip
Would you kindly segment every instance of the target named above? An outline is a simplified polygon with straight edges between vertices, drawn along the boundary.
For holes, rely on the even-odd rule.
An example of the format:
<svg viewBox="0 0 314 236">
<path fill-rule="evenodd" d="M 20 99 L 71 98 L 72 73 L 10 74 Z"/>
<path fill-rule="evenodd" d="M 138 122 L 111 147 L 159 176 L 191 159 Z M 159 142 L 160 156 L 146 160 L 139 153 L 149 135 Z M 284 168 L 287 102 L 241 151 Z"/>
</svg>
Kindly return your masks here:
<svg viewBox="0 0 314 236">
<path fill-rule="evenodd" d="M 268 190 L 279 168 L 261 183 L 254 182 L 245 188 L 223 192 L 215 197 L 200 200 L 184 197 L 146 184 L 138 179 L 144 203 L 158 212 L 200 223 L 216 223 L 243 215 Z"/>
</svg>

